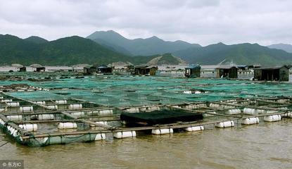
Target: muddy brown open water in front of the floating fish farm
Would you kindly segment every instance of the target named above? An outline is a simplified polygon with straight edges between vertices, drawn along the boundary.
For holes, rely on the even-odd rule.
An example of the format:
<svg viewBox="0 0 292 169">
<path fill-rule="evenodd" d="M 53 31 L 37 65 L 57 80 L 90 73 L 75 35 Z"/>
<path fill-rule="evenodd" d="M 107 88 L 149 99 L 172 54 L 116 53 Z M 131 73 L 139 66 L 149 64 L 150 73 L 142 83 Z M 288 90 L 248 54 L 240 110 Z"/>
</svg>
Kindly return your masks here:
<svg viewBox="0 0 292 169">
<path fill-rule="evenodd" d="M 292 168 L 292 120 L 40 148 L 11 142 L 0 159 L 25 168 Z"/>
</svg>

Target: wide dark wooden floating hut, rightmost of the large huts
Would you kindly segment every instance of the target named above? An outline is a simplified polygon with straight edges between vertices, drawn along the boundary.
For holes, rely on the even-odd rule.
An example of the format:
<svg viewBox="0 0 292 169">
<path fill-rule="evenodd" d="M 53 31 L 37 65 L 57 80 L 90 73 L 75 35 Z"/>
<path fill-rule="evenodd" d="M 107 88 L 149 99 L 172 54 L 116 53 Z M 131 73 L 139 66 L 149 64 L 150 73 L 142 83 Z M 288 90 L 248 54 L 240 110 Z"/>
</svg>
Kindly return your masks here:
<svg viewBox="0 0 292 169">
<path fill-rule="evenodd" d="M 287 65 L 262 66 L 254 69 L 255 80 L 288 81 L 289 67 Z"/>
</svg>

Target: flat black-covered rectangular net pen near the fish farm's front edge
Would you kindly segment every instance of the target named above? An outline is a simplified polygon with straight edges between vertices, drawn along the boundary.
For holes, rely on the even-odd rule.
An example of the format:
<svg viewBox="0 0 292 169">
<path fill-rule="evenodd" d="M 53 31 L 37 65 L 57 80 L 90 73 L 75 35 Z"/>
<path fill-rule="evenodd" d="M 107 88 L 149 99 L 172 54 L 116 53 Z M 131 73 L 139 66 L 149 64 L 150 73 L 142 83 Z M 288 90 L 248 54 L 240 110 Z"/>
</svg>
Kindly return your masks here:
<svg viewBox="0 0 292 169">
<path fill-rule="evenodd" d="M 141 125 L 159 125 L 177 122 L 203 120 L 202 113 L 189 113 L 181 110 L 151 111 L 146 113 L 121 113 L 120 120 Z"/>
</svg>

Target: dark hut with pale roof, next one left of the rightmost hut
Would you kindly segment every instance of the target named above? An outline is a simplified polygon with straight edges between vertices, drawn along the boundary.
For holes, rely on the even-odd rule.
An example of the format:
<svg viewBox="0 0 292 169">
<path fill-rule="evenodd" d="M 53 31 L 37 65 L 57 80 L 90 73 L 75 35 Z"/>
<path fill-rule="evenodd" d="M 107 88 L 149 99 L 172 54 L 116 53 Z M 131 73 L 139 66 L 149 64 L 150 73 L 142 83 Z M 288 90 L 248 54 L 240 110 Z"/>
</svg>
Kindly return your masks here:
<svg viewBox="0 0 292 169">
<path fill-rule="evenodd" d="M 237 78 L 238 68 L 235 65 L 220 65 L 216 68 L 216 77 Z"/>
</svg>

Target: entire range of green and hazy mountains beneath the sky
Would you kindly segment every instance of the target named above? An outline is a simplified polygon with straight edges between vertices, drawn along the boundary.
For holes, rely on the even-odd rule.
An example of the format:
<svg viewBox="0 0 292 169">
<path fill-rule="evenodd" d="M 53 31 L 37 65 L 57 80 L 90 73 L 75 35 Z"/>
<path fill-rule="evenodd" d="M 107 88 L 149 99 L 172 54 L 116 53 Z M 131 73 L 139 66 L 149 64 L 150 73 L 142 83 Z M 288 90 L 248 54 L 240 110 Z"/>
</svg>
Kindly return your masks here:
<svg viewBox="0 0 292 169">
<path fill-rule="evenodd" d="M 108 64 L 118 61 L 143 64 L 154 58 L 150 63 L 177 64 L 184 61 L 208 65 L 231 61 L 237 64 L 262 65 L 292 63 L 291 53 L 270 47 L 274 46 L 248 43 L 200 46 L 183 41 L 168 42 L 158 37 L 127 39 L 114 31 L 99 31 L 87 38 L 72 36 L 54 41 L 35 36 L 21 39 L 13 35 L 0 35 L 0 64 L 75 65 Z"/>
</svg>

